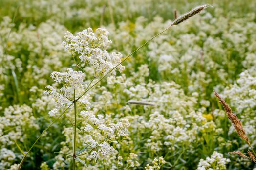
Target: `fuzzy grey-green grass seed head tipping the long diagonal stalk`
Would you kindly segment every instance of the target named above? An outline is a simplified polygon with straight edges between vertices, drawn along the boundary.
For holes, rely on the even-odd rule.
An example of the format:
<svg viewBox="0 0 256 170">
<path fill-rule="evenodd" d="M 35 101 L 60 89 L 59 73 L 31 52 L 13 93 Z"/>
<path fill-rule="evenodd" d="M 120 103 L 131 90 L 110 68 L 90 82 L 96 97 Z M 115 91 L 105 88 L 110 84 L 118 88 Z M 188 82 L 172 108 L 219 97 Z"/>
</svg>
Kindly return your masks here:
<svg viewBox="0 0 256 170">
<path fill-rule="evenodd" d="M 180 17 L 178 17 L 177 19 L 175 19 L 171 25 L 178 25 L 181 22 L 184 22 L 185 20 L 187 20 L 188 18 L 200 13 L 204 9 L 208 8 L 209 6 L 210 6 L 209 4 L 197 6 L 197 7 L 193 8 L 192 10 L 190 10 L 189 12 L 187 12 L 187 13 L 181 15 Z"/>
</svg>

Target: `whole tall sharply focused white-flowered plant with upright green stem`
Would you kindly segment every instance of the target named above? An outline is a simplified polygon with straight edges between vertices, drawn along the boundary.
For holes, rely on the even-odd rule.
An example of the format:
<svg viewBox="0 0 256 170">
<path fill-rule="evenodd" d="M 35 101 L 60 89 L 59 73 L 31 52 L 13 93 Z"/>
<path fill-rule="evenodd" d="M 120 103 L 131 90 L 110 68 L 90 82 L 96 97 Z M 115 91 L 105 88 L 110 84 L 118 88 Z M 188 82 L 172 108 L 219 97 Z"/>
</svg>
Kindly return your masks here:
<svg viewBox="0 0 256 170">
<path fill-rule="evenodd" d="M 118 143 L 117 140 L 119 137 L 127 136 L 129 122 L 126 119 L 122 119 L 116 124 L 106 123 L 103 115 L 98 114 L 95 116 L 95 111 L 90 109 L 91 103 L 89 101 L 91 100 L 91 94 L 86 93 L 86 90 L 91 87 L 90 85 L 95 78 L 105 75 L 105 73 L 107 75 L 110 72 L 115 75 L 115 71 L 113 71 L 114 68 L 118 68 L 119 71 L 124 69 L 120 64 L 122 54 L 110 54 L 106 51 L 111 43 L 111 41 L 108 40 L 107 30 L 98 28 L 96 32 L 93 33 L 92 29 L 88 28 L 77 33 L 76 36 L 67 31 L 64 38 L 63 45 L 73 57 L 74 64 L 72 66 L 74 66 L 74 68 L 67 68 L 66 72 L 52 72 L 51 78 L 55 83 L 52 86 L 48 85 L 46 87 L 47 91 L 45 91 L 45 94 L 55 100 L 55 108 L 49 112 L 50 116 L 57 115 L 59 110 L 65 105 L 69 105 L 69 107 L 73 105 L 73 131 L 71 130 L 72 128 L 64 129 L 63 132 L 67 140 L 63 144 L 69 145 L 72 142 L 73 169 L 75 169 L 75 161 L 78 159 L 76 156 L 82 156 L 81 159 L 85 162 L 87 161 L 87 159 L 84 159 L 85 156 L 87 156 L 88 160 L 109 160 L 110 156 L 116 152 L 114 147 L 110 145 L 111 142 L 109 140 L 113 140 L 116 144 Z M 76 62 L 77 58 L 80 60 L 78 63 Z M 118 67 L 116 67 L 117 65 Z M 93 71 L 94 74 L 90 83 L 88 83 L 89 76 L 85 74 L 85 69 L 88 67 L 93 68 L 90 70 Z M 89 73 L 89 75 L 93 74 Z M 83 111 L 80 112 L 80 117 L 77 117 L 77 102 L 82 104 L 81 108 Z M 66 116 L 70 117 L 69 114 L 66 114 Z M 83 142 L 81 141 L 81 137 L 83 137 L 81 132 L 76 132 L 78 119 L 82 120 L 80 122 L 82 125 L 81 129 L 84 130 L 86 137 L 86 140 Z M 71 120 L 70 122 L 73 124 Z M 73 133 L 73 135 L 71 135 L 71 133 Z M 72 140 L 69 138 L 70 136 L 73 136 Z M 83 153 L 83 151 L 77 153 L 76 144 L 87 145 L 87 150 L 90 149 L 88 152 L 89 155 Z M 69 151 L 68 146 L 64 146 L 62 152 L 68 153 Z M 57 164 L 58 163 L 55 165 Z M 62 163 L 58 166 L 62 166 Z"/>
</svg>

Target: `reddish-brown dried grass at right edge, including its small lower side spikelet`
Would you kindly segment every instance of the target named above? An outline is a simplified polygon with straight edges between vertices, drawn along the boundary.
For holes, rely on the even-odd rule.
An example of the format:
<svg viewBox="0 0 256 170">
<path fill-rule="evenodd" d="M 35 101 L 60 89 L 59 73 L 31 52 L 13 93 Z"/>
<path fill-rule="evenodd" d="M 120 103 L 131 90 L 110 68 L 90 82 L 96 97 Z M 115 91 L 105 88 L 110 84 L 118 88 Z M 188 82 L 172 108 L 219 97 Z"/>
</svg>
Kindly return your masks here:
<svg viewBox="0 0 256 170">
<path fill-rule="evenodd" d="M 246 156 L 244 153 L 241 153 L 240 151 L 235 151 L 235 152 L 229 152 L 228 154 L 232 154 L 232 155 L 240 155 L 244 158 L 250 159 L 251 161 L 256 163 L 256 153 L 254 151 L 253 146 L 251 145 L 251 142 L 248 138 L 248 136 L 246 135 L 246 132 L 242 126 L 242 122 L 240 121 L 240 119 L 232 112 L 232 109 L 230 108 L 230 106 L 225 102 L 224 99 L 222 99 L 220 97 L 220 95 L 214 91 L 215 96 L 219 99 L 219 102 L 222 104 L 226 115 L 228 117 L 228 119 L 231 120 L 232 125 L 235 128 L 235 131 L 237 132 L 238 136 L 240 136 L 241 139 L 243 139 L 248 146 L 251 148 L 251 151 L 248 149 L 247 153 L 249 154 L 249 156 Z"/>
</svg>

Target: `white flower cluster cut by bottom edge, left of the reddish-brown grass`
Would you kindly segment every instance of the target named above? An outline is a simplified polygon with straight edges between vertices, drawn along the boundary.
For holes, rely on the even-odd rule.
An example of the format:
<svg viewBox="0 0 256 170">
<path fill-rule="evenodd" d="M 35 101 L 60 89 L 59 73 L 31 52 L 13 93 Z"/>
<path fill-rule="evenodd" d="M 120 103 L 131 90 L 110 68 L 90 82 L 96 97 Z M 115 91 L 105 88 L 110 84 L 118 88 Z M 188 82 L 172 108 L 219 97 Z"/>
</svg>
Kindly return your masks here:
<svg viewBox="0 0 256 170">
<path fill-rule="evenodd" d="M 200 159 L 196 170 L 226 170 L 226 164 L 229 162 L 230 160 L 224 158 L 223 154 L 214 151 L 206 160 Z"/>
</svg>

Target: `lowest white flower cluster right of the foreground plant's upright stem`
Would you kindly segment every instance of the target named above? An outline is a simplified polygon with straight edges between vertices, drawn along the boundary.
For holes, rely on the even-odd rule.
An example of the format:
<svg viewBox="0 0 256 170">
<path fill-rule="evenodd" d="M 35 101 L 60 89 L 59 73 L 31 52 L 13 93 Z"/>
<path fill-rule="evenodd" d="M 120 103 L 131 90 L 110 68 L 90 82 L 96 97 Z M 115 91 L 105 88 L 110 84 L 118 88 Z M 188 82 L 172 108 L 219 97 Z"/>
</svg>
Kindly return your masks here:
<svg viewBox="0 0 256 170">
<path fill-rule="evenodd" d="M 120 137 L 128 135 L 129 122 L 122 119 L 120 122 L 107 124 L 103 115 L 97 115 L 92 111 L 81 111 L 83 119 L 84 131 L 88 140 L 88 149 L 91 149 L 89 154 L 90 159 L 94 160 L 107 160 L 114 152 L 115 149 L 110 146 L 111 141 L 114 142 Z"/>
</svg>

